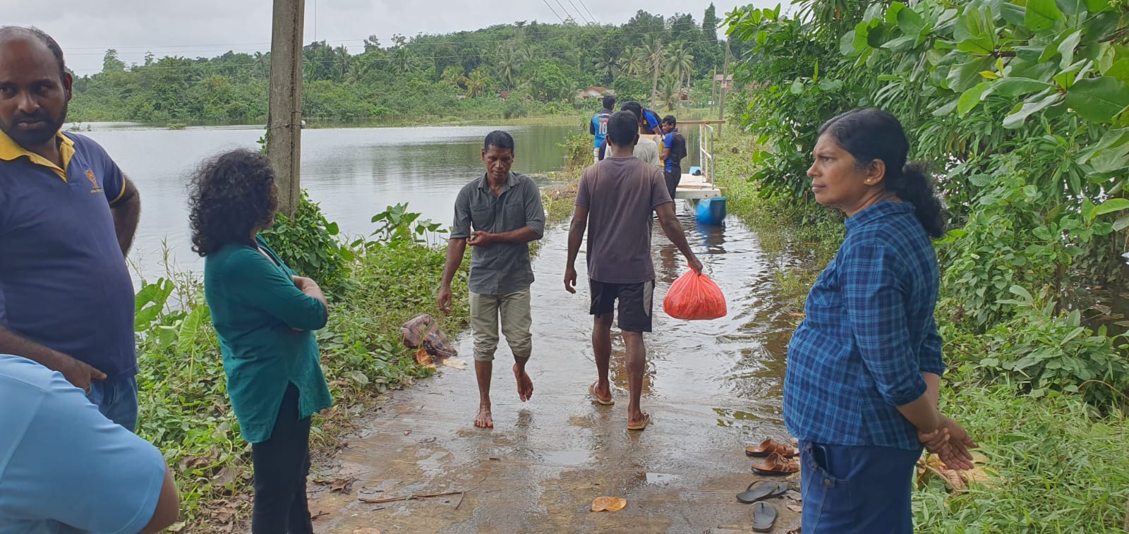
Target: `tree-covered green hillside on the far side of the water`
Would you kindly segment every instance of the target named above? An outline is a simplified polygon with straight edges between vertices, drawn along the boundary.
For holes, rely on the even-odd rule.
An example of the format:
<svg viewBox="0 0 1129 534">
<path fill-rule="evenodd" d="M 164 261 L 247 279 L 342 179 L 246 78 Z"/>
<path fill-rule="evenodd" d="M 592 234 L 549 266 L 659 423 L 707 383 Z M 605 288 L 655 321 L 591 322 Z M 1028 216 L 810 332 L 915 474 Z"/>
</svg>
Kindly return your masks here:
<svg viewBox="0 0 1129 534">
<path fill-rule="evenodd" d="M 724 54 L 717 23 L 710 6 L 701 24 L 691 15 L 664 19 L 640 10 L 619 26 L 517 21 L 446 35 L 395 35 L 388 45 L 369 36 L 359 53 L 318 41 L 303 51 L 303 113 L 385 122 L 576 114 L 592 111 L 593 104 L 577 102 L 578 91 L 589 86 L 640 100 L 649 100 L 655 89 L 669 108 L 684 94 L 688 102 L 706 105 Z M 145 64 L 125 65 L 110 50 L 102 72 L 76 79 L 70 116 L 263 121 L 269 76 L 269 53 L 150 54 Z"/>
</svg>

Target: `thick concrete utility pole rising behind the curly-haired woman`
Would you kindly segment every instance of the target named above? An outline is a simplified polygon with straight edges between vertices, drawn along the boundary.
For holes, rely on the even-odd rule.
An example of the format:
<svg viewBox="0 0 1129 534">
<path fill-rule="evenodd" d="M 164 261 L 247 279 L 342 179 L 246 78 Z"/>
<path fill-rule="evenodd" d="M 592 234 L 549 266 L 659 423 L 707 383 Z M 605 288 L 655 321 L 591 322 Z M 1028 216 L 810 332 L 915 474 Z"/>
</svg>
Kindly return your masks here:
<svg viewBox="0 0 1129 534">
<path fill-rule="evenodd" d="M 274 165 L 279 209 L 294 217 L 301 196 L 301 40 L 305 0 L 274 0 L 266 157 Z"/>
</svg>

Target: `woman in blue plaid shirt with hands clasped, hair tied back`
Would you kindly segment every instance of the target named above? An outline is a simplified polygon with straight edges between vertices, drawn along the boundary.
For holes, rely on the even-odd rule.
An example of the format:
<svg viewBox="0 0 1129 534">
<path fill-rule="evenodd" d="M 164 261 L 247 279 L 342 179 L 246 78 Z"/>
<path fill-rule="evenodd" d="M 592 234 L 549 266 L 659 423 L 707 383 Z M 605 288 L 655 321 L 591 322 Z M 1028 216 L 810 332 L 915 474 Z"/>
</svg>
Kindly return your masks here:
<svg viewBox="0 0 1129 534">
<path fill-rule="evenodd" d="M 901 123 L 878 110 L 820 129 L 815 200 L 847 215 L 847 237 L 807 296 L 788 345 L 784 414 L 799 439 L 803 532 L 911 533 L 913 466 L 925 446 L 971 469 L 968 432 L 937 410 L 942 208 L 907 165 Z"/>
</svg>

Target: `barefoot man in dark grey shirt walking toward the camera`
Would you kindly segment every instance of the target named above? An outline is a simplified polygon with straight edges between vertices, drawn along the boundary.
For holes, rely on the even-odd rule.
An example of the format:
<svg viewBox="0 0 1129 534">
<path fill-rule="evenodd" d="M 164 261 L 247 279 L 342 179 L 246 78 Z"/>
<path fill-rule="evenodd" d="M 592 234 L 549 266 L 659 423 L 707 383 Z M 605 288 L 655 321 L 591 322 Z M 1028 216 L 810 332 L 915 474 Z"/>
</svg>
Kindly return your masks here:
<svg viewBox="0 0 1129 534">
<path fill-rule="evenodd" d="M 490 376 L 498 348 L 498 318 L 514 352 L 514 377 L 522 402 L 533 396 L 525 364 L 533 351 L 530 327 L 530 284 L 533 266 L 530 242 L 541 239 L 545 211 L 541 192 L 528 176 L 511 173 L 514 138 L 502 131 L 487 135 L 482 148 L 485 174 L 466 184 L 455 199 L 455 224 L 447 244 L 447 263 L 439 287 L 439 309 L 450 312 L 450 281 L 471 245 L 471 332 L 474 374 L 479 380 L 479 414 L 474 426 L 493 428 Z M 473 228 L 473 231 L 472 231 Z"/>
</svg>

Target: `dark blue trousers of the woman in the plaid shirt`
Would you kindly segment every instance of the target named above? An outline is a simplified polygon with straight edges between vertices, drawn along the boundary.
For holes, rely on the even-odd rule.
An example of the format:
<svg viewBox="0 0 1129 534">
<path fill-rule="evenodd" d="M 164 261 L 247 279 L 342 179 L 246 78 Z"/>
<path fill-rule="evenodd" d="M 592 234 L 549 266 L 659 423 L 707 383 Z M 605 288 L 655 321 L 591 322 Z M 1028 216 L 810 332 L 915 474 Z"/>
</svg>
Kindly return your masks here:
<svg viewBox="0 0 1129 534">
<path fill-rule="evenodd" d="M 799 443 L 803 534 L 912 534 L 921 450 Z"/>
</svg>

